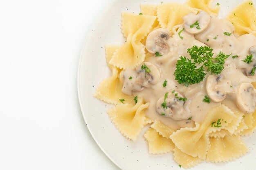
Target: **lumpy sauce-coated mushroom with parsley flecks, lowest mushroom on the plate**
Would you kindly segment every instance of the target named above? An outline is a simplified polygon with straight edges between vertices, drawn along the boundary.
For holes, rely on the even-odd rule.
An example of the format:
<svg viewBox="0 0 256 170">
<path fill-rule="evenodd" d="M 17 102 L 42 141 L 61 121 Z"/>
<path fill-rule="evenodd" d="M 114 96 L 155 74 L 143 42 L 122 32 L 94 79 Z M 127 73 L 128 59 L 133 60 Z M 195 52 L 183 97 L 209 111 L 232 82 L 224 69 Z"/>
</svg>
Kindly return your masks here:
<svg viewBox="0 0 256 170">
<path fill-rule="evenodd" d="M 167 93 L 166 93 L 167 94 Z M 186 100 L 182 92 L 168 92 L 167 96 L 162 96 L 157 100 L 157 113 L 161 116 L 172 118 L 173 120 L 187 120 L 190 118 L 189 112 L 184 108 Z"/>
</svg>

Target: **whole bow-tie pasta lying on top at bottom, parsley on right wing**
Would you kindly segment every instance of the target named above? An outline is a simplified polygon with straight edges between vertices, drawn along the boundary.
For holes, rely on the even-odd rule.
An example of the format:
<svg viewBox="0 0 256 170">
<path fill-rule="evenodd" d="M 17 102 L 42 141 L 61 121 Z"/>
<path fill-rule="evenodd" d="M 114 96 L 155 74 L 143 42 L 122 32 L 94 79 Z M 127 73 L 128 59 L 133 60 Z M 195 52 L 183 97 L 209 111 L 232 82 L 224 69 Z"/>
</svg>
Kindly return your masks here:
<svg viewBox="0 0 256 170">
<path fill-rule="evenodd" d="M 221 118 L 220 127 L 212 127 L 212 122 L 217 122 Z M 182 128 L 174 132 L 170 138 L 177 148 L 182 152 L 191 155 L 192 157 L 199 157 L 205 159 L 207 150 L 209 149 L 209 133 L 225 129 L 229 123 L 236 118 L 234 112 L 220 105 L 212 108 L 207 114 L 204 122 L 200 125 L 196 123 L 195 128 Z M 225 123 L 226 121 L 226 123 Z"/>
</svg>

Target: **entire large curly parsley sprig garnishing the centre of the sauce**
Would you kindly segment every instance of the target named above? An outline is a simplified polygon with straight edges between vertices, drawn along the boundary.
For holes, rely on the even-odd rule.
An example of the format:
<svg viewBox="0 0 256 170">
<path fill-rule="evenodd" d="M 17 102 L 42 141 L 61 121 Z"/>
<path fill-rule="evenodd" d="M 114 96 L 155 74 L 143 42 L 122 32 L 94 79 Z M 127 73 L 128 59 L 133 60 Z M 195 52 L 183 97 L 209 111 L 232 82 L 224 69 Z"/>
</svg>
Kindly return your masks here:
<svg viewBox="0 0 256 170">
<path fill-rule="evenodd" d="M 213 58 L 212 51 L 213 49 L 208 46 L 193 46 L 189 48 L 187 52 L 191 56 L 191 59 L 180 57 L 176 63 L 176 70 L 174 72 L 175 80 L 180 84 L 189 86 L 203 81 L 206 75 L 205 71 L 216 75 L 220 74 L 224 69 L 225 59 L 230 55 L 220 52 L 216 58 Z M 198 66 L 201 63 L 203 65 Z"/>
</svg>

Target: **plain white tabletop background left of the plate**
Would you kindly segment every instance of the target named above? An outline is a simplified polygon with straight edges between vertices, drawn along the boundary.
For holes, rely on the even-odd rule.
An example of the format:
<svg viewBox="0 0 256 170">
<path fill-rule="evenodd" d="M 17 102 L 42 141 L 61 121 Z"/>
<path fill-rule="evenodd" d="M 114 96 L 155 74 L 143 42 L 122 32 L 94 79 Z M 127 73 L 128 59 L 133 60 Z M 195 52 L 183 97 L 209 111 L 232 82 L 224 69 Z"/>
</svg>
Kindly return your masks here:
<svg viewBox="0 0 256 170">
<path fill-rule="evenodd" d="M 118 169 L 77 97 L 86 35 L 110 0 L 0 0 L 0 169 Z"/>
</svg>

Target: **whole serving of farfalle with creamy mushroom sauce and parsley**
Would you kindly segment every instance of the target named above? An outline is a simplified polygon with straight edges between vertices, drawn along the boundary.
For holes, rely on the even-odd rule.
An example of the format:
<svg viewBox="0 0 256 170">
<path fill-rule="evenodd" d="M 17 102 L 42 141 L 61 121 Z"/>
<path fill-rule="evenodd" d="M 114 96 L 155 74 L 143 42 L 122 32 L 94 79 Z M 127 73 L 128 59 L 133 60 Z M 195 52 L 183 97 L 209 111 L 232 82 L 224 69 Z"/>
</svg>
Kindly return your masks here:
<svg viewBox="0 0 256 170">
<path fill-rule="evenodd" d="M 183 168 L 238 159 L 256 128 L 256 10 L 246 1 L 220 20 L 220 5 L 122 13 L 126 41 L 105 46 L 112 76 L 94 94 L 115 105 L 107 113 L 121 134 L 135 141 L 149 127 L 149 153 L 173 153 Z"/>
</svg>

